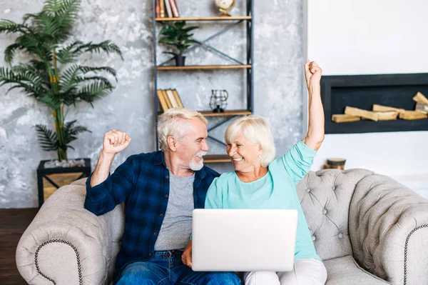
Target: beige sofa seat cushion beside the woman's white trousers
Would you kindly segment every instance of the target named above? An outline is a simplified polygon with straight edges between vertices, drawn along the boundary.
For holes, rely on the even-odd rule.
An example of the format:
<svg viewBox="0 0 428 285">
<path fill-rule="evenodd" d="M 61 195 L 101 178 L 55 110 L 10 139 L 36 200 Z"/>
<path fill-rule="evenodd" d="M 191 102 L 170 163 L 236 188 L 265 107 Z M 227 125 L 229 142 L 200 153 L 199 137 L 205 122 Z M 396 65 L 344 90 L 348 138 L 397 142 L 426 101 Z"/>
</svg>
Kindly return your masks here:
<svg viewBox="0 0 428 285">
<path fill-rule="evenodd" d="M 389 284 L 387 281 L 362 269 L 350 255 L 325 260 L 324 265 L 327 269 L 326 285 Z"/>
</svg>

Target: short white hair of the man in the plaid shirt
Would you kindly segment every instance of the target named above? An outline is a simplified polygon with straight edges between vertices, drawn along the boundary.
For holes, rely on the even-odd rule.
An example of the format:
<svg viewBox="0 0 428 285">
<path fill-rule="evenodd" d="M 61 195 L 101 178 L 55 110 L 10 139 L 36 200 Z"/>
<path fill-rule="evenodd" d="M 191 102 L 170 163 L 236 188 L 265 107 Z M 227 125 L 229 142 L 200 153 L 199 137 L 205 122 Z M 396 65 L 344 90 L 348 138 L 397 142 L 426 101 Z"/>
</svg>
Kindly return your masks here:
<svg viewBox="0 0 428 285">
<path fill-rule="evenodd" d="M 184 108 L 174 108 L 166 110 L 158 121 L 158 140 L 159 147 L 162 151 L 168 151 L 168 136 L 173 136 L 175 139 L 180 141 L 185 136 L 185 124 L 186 120 L 200 119 L 206 125 L 208 124 L 207 119 L 200 114 L 198 111 L 193 111 Z"/>
</svg>

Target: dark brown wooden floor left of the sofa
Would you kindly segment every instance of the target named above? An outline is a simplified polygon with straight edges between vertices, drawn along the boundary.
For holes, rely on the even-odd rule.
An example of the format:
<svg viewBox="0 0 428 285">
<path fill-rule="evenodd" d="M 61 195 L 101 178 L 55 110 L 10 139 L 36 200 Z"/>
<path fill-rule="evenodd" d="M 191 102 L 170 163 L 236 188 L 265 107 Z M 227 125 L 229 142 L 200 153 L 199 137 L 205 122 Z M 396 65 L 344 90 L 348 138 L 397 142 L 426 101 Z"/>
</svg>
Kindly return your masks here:
<svg viewBox="0 0 428 285">
<path fill-rule="evenodd" d="M 0 284 L 21 285 L 26 281 L 16 269 L 15 251 L 21 235 L 39 208 L 36 209 L 0 209 Z"/>
</svg>

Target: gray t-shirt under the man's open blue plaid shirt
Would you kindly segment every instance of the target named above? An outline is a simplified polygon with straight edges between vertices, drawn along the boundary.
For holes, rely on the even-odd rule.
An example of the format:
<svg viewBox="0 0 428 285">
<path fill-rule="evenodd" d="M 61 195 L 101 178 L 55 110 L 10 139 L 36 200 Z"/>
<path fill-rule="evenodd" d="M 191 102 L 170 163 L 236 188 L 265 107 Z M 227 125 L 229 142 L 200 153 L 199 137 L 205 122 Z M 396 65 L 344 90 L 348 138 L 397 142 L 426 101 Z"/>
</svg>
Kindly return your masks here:
<svg viewBox="0 0 428 285">
<path fill-rule="evenodd" d="M 165 217 L 156 239 L 155 251 L 185 249 L 192 234 L 193 181 L 195 174 L 178 177 L 170 174 L 170 193 Z"/>
</svg>

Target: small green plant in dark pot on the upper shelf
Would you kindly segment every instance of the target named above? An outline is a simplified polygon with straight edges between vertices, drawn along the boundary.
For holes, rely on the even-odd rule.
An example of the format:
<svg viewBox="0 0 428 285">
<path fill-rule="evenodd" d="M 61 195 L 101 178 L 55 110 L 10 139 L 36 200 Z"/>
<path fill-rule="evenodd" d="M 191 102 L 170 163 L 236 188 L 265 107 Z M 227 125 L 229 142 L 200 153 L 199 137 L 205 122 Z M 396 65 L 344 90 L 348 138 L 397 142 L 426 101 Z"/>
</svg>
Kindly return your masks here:
<svg viewBox="0 0 428 285">
<path fill-rule="evenodd" d="M 185 56 L 183 53 L 192 45 L 200 44 L 199 41 L 190 39 L 190 31 L 199 29 L 198 26 L 185 27 L 185 21 L 177 21 L 173 25 L 163 26 L 160 33 L 164 37 L 159 39 L 159 43 L 175 46 L 178 52 L 163 51 L 164 54 L 172 54 L 175 57 L 176 66 L 184 66 Z"/>
</svg>

